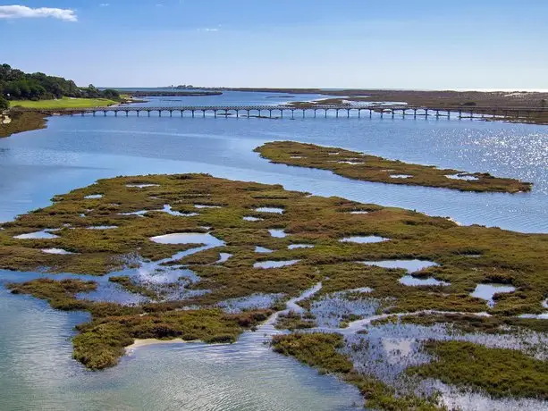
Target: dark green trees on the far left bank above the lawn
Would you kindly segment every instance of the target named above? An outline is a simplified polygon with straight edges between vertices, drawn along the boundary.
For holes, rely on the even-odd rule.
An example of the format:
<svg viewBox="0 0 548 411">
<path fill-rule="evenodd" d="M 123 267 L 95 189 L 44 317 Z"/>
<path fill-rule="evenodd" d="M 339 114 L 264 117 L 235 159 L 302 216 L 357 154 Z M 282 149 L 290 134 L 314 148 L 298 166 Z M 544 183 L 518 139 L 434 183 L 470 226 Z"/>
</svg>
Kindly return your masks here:
<svg viewBox="0 0 548 411">
<path fill-rule="evenodd" d="M 100 90 L 92 84 L 80 88 L 74 81 L 63 77 L 48 76 L 43 72 L 26 73 L 13 69 L 9 64 L 0 65 L 0 109 L 3 100 L 38 101 L 64 96 L 120 99 L 120 94 L 113 89 Z"/>
</svg>

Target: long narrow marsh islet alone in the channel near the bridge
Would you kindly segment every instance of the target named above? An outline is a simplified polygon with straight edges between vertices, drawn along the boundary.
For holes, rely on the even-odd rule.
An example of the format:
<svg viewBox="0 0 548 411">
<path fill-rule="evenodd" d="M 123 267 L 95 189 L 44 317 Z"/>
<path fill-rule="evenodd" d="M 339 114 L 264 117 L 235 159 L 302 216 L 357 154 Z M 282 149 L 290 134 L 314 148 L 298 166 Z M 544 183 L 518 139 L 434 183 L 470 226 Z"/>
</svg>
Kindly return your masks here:
<svg viewBox="0 0 548 411">
<path fill-rule="evenodd" d="M 321 147 L 294 141 L 266 143 L 257 147 L 255 151 L 270 160 L 271 163 L 329 170 L 354 180 L 459 189 L 461 191 L 508 193 L 530 191 L 532 186 L 528 182 L 493 177 L 485 172 L 438 169 L 434 166 L 409 164 L 399 160 L 387 160 L 375 155 L 364 155 L 357 151 L 338 147 Z M 393 178 L 392 175 L 409 177 Z M 459 175 L 459 177 L 476 180 L 451 179 L 447 177 L 448 175 Z"/>
</svg>

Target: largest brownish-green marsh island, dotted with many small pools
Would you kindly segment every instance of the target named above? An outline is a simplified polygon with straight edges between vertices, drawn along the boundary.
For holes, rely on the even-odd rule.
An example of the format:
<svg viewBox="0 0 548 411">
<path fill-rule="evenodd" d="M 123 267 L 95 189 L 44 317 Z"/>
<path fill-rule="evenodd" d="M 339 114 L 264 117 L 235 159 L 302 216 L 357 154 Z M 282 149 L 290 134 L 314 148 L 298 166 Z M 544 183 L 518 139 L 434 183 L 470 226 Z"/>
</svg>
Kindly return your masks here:
<svg viewBox="0 0 548 411">
<path fill-rule="evenodd" d="M 135 184 L 152 186 L 131 187 Z M 95 194 L 102 197 L 86 198 Z M 192 216 L 159 211 L 166 204 L 173 211 L 191 213 Z M 197 205 L 217 207 L 197 208 Z M 284 212 L 265 213 L 257 211 L 258 207 L 281 207 Z M 148 213 L 143 216 L 128 214 L 140 210 L 148 210 Z M 367 214 L 351 214 L 352 211 L 367 211 Z M 262 220 L 246 221 L 244 216 Z M 88 229 L 99 225 L 117 228 Z M 216 308 L 217 304 L 229 298 L 248 298 L 255 294 L 283 293 L 285 298 L 296 297 L 319 281 L 322 281 L 323 288 L 313 298 L 303 301 L 301 306 L 307 307 L 311 300 L 333 292 L 369 287 L 372 291 L 367 293 L 367 298 L 382 302 L 379 312 L 426 309 L 464 313 L 487 311 L 492 315 L 488 319 L 440 316 L 435 321 L 461 323 L 462 330 L 488 331 L 515 326 L 545 331 L 539 321 L 510 319 L 519 314 L 544 311 L 541 303 L 548 296 L 548 260 L 545 258 L 548 255 L 548 236 L 543 234 L 521 234 L 480 226 L 461 227 L 444 218 L 400 208 L 360 204 L 340 197 L 308 196 L 307 193 L 285 190 L 279 185 L 223 180 L 204 174 L 99 180 L 89 187 L 55 196 L 52 206 L 23 214 L 13 222 L 5 222 L 2 228 L 1 268 L 36 271 L 48 267 L 52 273 L 102 275 L 139 264 L 136 252 L 145 260 L 157 262 L 199 246 L 158 244 L 150 240 L 153 236 L 168 233 L 209 232 L 223 240 L 221 247 L 162 264 L 161 269 L 166 270 L 173 264 L 189 264 L 188 268 L 198 274 L 198 282 L 181 280 L 168 284 L 173 289 L 184 286 L 196 291 L 188 298 L 174 301 L 155 299 L 139 306 L 121 306 L 76 299 L 74 283 L 35 280 L 10 286 L 15 292 L 47 299 L 52 306 L 89 311 L 92 320 L 79 326 L 80 334 L 74 338 L 74 347 L 76 358 L 94 369 L 115 365 L 123 354 L 123 347 L 137 338 L 234 340 L 242 330 L 266 319 L 274 306 L 269 310 L 228 315 Z M 58 237 L 14 238 L 46 228 L 60 229 L 55 231 Z M 274 238 L 268 232 L 274 228 L 289 235 Z M 352 235 L 376 235 L 390 240 L 369 244 L 340 241 Z M 289 245 L 299 243 L 315 247 L 288 249 Z M 257 254 L 257 246 L 274 251 Z M 55 255 L 42 251 L 50 247 L 63 248 L 73 254 Z M 217 264 L 220 252 L 232 256 L 223 264 Z M 282 268 L 253 266 L 259 261 L 295 259 L 299 260 L 298 264 Z M 398 281 L 406 273 L 403 270 L 358 263 L 384 259 L 434 261 L 439 265 L 415 275 L 434 277 L 451 285 L 409 287 Z M 134 277 L 114 277 L 112 281 L 131 292 L 163 298 L 158 289 L 150 289 L 146 282 L 138 282 Z M 476 285 L 483 282 L 512 284 L 516 291 L 496 295 L 496 304 L 489 307 L 485 300 L 470 297 Z M 89 283 L 77 285 L 92 287 Z M 350 293 L 345 298 L 360 297 L 358 293 Z M 279 308 L 278 303 L 275 308 Z M 349 313 L 341 321 L 345 323 L 356 318 L 355 314 Z M 278 327 L 291 330 L 309 328 L 314 324 L 309 313 L 290 313 L 282 315 L 279 320 Z M 308 340 L 304 342 L 308 344 Z M 332 367 L 322 366 L 326 369 Z M 337 369 L 337 372 L 341 370 Z M 367 376 L 353 371 L 345 374 L 346 381 L 355 383 L 364 392 L 388 390 L 375 388 L 378 382 Z M 367 398 L 371 396 L 373 394 L 366 395 Z M 389 401 L 378 396 L 375 398 L 378 404 Z M 387 395 L 387 398 L 392 397 Z"/>
</svg>

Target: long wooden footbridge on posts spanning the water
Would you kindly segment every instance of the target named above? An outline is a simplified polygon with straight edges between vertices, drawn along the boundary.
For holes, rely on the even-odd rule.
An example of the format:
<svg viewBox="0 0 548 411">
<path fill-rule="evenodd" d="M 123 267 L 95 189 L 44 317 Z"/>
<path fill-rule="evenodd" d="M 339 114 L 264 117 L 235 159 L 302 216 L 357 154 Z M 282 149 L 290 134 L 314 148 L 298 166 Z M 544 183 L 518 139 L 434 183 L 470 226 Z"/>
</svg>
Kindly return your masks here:
<svg viewBox="0 0 548 411">
<path fill-rule="evenodd" d="M 358 117 L 362 116 L 362 113 L 368 114 L 369 117 L 373 116 L 373 113 L 379 113 L 381 118 L 384 116 L 411 116 L 417 118 L 419 116 L 429 117 L 450 117 L 451 113 L 458 113 L 459 118 L 477 118 L 485 116 L 501 116 L 505 118 L 525 119 L 530 118 L 532 115 L 539 115 L 542 113 L 548 113 L 548 107 L 476 107 L 469 105 L 455 105 L 455 106 L 443 106 L 443 107 L 424 107 L 424 106 L 409 106 L 409 105 L 183 105 L 183 106 L 135 106 L 135 105 L 116 105 L 110 107 L 90 107 L 90 108 L 68 108 L 68 109 L 48 109 L 39 110 L 40 113 L 46 113 L 50 115 L 86 115 L 91 114 L 96 116 L 97 114 L 103 114 L 106 116 L 108 113 L 114 113 L 114 116 L 118 116 L 118 113 L 125 113 L 129 116 L 134 112 L 139 116 L 141 113 L 147 113 L 150 117 L 151 113 L 157 113 L 159 117 L 167 115 L 173 117 L 174 115 L 184 116 L 188 113 L 190 117 L 206 117 L 207 113 L 212 113 L 216 117 L 261 117 L 261 118 L 283 118 L 285 115 L 290 115 L 290 118 L 297 116 L 305 117 L 327 117 L 328 113 L 334 113 L 336 118 L 349 117 L 350 113 L 358 114 Z M 274 113 L 274 116 L 273 116 Z"/>
</svg>

